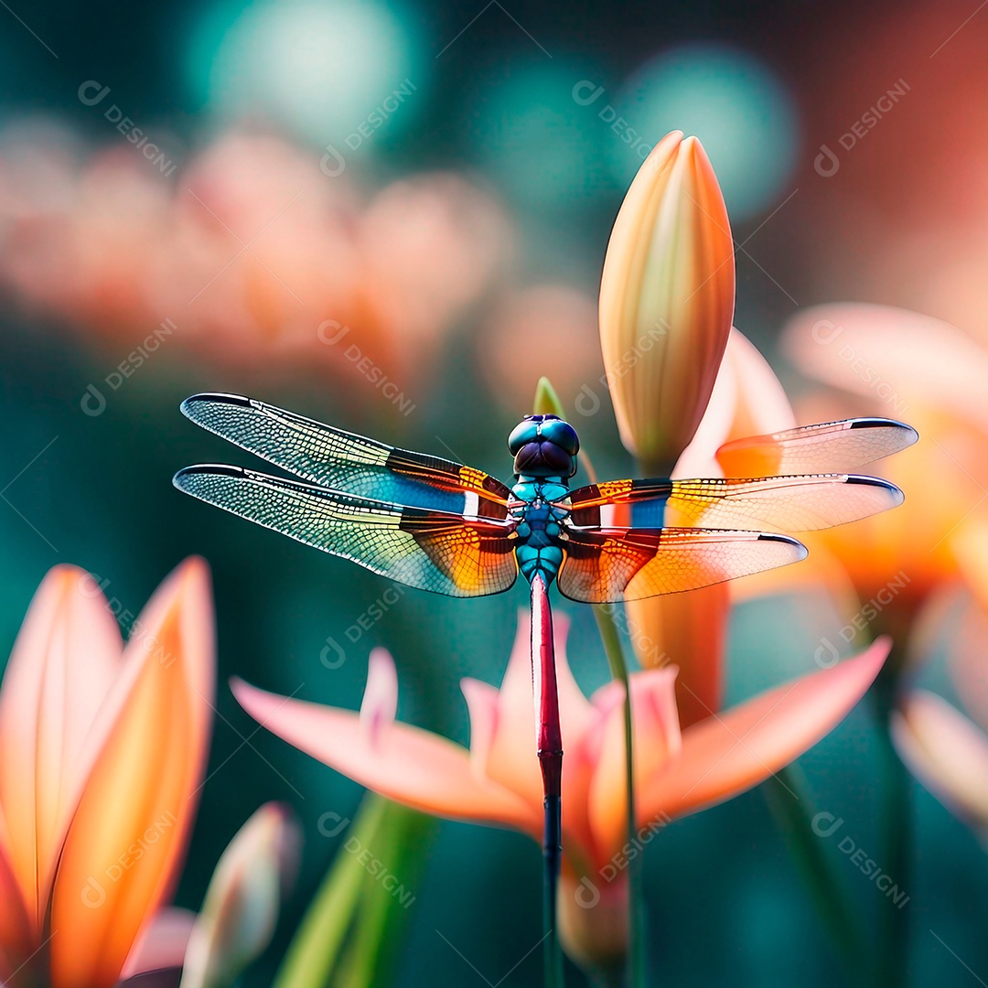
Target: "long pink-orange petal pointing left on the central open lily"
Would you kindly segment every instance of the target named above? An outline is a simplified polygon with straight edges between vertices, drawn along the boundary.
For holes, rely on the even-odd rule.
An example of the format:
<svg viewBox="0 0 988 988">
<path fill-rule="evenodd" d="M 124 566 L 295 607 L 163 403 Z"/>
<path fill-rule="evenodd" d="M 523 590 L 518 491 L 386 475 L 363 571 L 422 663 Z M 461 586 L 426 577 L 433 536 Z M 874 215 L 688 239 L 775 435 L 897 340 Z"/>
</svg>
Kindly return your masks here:
<svg viewBox="0 0 988 988">
<path fill-rule="evenodd" d="M 437 816 L 537 832 L 533 807 L 504 786 L 479 778 L 467 750 L 438 734 L 393 723 L 379 729 L 371 743 L 366 724 L 353 710 L 288 700 L 237 679 L 230 689 L 273 734 L 388 799 Z"/>
</svg>

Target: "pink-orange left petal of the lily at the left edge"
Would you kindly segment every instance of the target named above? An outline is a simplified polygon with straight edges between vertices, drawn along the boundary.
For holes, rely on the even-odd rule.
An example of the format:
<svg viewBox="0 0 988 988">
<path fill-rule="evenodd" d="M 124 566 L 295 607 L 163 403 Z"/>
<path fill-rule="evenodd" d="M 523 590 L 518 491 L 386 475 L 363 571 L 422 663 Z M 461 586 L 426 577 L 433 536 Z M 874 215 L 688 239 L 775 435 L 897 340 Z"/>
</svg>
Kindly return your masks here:
<svg viewBox="0 0 988 988">
<path fill-rule="evenodd" d="M 0 691 L 0 803 L 11 864 L 36 931 L 92 761 L 87 736 L 122 652 L 117 621 L 95 580 L 74 566 L 50 570 Z"/>
</svg>

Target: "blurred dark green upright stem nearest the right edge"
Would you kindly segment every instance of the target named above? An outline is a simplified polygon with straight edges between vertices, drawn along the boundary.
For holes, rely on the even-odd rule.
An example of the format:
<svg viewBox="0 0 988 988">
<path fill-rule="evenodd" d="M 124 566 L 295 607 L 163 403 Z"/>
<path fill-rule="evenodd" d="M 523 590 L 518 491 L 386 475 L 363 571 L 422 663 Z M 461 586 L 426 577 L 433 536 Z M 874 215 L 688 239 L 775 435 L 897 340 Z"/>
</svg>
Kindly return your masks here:
<svg viewBox="0 0 988 988">
<path fill-rule="evenodd" d="M 897 679 L 895 673 L 879 675 L 870 697 L 877 719 L 878 752 L 881 759 L 881 864 L 899 888 L 908 888 L 912 857 L 911 783 L 909 773 L 892 744 L 890 733 Z M 882 907 L 878 918 L 879 955 L 875 984 L 879 988 L 907 988 L 909 914 L 890 899 L 883 902 Z"/>
</svg>

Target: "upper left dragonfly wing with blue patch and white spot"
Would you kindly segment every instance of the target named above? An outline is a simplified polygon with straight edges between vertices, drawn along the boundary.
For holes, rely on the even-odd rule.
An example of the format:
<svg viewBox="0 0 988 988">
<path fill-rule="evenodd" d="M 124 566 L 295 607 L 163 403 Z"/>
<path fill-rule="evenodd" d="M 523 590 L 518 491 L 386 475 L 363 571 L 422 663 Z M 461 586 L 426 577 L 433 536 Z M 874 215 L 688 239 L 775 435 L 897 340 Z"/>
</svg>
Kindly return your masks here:
<svg viewBox="0 0 988 988">
<path fill-rule="evenodd" d="M 399 450 L 236 394 L 195 394 L 182 411 L 209 432 L 320 486 L 454 515 L 508 517 L 509 489 L 472 466 Z"/>
</svg>

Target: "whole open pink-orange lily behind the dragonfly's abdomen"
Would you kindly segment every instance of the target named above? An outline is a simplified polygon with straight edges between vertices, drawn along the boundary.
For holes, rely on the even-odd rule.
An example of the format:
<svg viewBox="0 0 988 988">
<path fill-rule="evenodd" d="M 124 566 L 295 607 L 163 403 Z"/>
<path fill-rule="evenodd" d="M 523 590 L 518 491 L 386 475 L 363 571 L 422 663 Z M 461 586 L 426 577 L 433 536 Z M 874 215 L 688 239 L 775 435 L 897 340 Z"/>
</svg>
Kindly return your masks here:
<svg viewBox="0 0 988 988">
<path fill-rule="evenodd" d="M 600 963 L 626 938 L 623 692 L 613 682 L 587 700 L 570 671 L 567 621 L 557 617 L 556 662 L 567 770 L 563 775 L 561 934 L 577 959 Z M 857 658 L 747 700 L 681 730 L 675 667 L 631 677 L 636 827 L 648 843 L 676 816 L 729 799 L 801 755 L 864 695 L 888 651 L 879 640 Z M 371 653 L 360 713 L 290 700 L 234 681 L 259 723 L 380 794 L 438 816 L 501 824 L 541 840 L 542 783 L 535 732 L 528 618 L 501 689 L 466 679 L 470 747 L 396 723 L 397 677 L 384 649 Z M 600 911 L 595 908 L 600 905 Z"/>
</svg>

